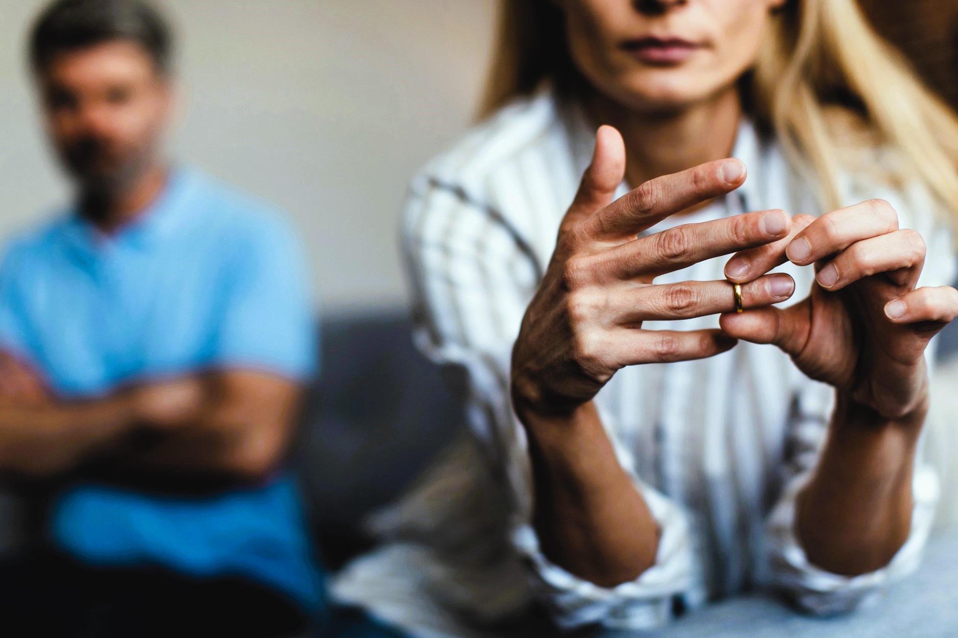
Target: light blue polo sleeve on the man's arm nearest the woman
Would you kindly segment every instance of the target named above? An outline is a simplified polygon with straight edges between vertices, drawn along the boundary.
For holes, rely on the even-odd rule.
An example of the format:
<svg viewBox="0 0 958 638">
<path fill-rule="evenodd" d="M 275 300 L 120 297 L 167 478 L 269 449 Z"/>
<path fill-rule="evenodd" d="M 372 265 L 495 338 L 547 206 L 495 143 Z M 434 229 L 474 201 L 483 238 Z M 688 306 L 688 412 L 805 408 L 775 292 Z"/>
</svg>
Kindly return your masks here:
<svg viewBox="0 0 958 638">
<path fill-rule="evenodd" d="M 264 218 L 244 235 L 227 273 L 213 363 L 308 380 L 319 354 L 305 251 L 281 218 Z"/>
</svg>

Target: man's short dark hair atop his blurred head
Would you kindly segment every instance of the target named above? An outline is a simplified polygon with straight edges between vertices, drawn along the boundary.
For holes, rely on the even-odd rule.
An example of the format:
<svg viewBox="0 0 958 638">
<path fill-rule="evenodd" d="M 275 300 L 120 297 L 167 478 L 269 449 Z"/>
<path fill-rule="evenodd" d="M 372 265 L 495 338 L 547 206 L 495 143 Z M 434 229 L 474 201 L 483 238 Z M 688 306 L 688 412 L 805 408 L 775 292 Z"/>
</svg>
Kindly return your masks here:
<svg viewBox="0 0 958 638">
<path fill-rule="evenodd" d="M 57 0 L 36 18 L 30 63 L 42 73 L 59 54 L 114 40 L 138 44 L 158 72 L 171 72 L 170 26 L 146 0 Z"/>
</svg>

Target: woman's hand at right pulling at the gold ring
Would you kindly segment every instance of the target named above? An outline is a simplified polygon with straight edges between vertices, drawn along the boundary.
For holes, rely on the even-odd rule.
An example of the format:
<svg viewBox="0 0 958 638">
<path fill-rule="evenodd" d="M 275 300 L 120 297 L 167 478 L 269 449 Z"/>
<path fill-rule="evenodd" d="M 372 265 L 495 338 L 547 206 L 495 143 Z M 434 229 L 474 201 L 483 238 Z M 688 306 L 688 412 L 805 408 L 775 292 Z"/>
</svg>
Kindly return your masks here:
<svg viewBox="0 0 958 638">
<path fill-rule="evenodd" d="M 880 199 L 818 218 L 795 216 L 787 238 L 735 255 L 725 274 L 745 283 L 786 261 L 814 264 L 808 298 L 790 308 L 723 314 L 721 328 L 775 344 L 846 399 L 901 419 L 924 407 L 924 349 L 958 315 L 958 290 L 916 288 L 924 256 L 922 237 L 900 230 L 895 209 Z"/>
</svg>

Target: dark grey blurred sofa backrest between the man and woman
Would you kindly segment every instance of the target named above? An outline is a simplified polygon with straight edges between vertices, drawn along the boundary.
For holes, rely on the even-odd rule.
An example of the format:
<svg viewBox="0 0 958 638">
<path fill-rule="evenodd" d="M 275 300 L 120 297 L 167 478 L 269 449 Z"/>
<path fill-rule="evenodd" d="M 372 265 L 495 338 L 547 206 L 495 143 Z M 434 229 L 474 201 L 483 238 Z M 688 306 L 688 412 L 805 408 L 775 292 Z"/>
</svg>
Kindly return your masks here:
<svg viewBox="0 0 958 638">
<path fill-rule="evenodd" d="M 323 323 L 297 465 L 332 566 L 365 546 L 362 517 L 399 496 L 463 427 L 456 384 L 410 334 L 402 310 Z"/>
</svg>

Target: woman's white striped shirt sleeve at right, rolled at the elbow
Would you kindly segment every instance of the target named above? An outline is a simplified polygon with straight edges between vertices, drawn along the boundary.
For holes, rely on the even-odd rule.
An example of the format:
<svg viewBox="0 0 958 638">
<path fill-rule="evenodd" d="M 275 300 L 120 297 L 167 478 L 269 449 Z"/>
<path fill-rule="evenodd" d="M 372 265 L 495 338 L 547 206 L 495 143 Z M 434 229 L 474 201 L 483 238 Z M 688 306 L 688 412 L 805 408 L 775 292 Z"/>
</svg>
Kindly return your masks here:
<svg viewBox="0 0 958 638">
<path fill-rule="evenodd" d="M 899 211 L 902 228 L 919 231 L 927 245 L 925 266 L 919 286 L 950 285 L 955 275 L 952 235 L 944 223 L 931 216 L 911 216 L 909 211 L 932 211 L 921 194 L 910 199 L 886 197 Z M 911 206 L 907 204 L 910 203 Z M 924 220 L 924 223 L 923 223 Z M 934 344 L 925 352 L 929 376 L 934 375 Z M 924 460 L 925 434 L 937 423 L 925 423 L 918 446 L 912 480 L 913 511 L 910 534 L 898 553 L 884 567 L 855 577 L 839 576 L 810 563 L 795 533 L 796 497 L 809 481 L 818 461 L 834 407 L 833 389 L 804 379 L 789 422 L 790 450 L 787 484 L 781 500 L 768 519 L 769 564 L 774 584 L 800 607 L 815 614 L 852 611 L 874 602 L 886 586 L 913 572 L 919 565 L 928 535 L 934 524 L 939 497 L 938 475 Z M 929 420 L 932 417 L 929 416 Z"/>
</svg>

